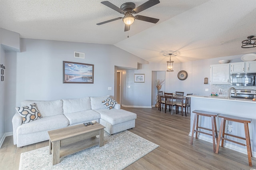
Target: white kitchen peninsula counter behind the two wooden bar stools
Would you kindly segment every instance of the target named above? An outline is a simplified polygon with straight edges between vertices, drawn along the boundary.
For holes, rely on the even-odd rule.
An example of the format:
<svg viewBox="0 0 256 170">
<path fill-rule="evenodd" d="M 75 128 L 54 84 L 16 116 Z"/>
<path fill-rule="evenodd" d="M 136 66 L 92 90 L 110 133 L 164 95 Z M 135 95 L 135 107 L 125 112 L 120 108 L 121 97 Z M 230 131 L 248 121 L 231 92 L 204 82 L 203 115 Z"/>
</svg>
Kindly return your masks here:
<svg viewBox="0 0 256 170">
<path fill-rule="evenodd" d="M 249 123 L 250 140 L 252 146 L 252 156 L 256 157 L 256 102 L 249 99 L 228 99 L 228 97 L 212 97 L 212 96 L 196 96 L 190 95 L 191 97 L 191 115 L 190 115 L 190 136 L 192 134 L 193 122 L 194 122 L 194 110 L 208 111 L 225 115 L 233 115 L 238 117 L 250 118 L 252 122 Z M 200 117 L 199 123 L 202 127 L 211 128 L 211 119 L 208 117 Z M 216 119 L 217 130 L 220 127 L 220 119 Z M 228 130 L 228 125 L 232 128 L 230 134 L 245 137 L 244 125 L 242 123 L 230 122 L 226 123 L 226 131 Z M 203 130 L 208 132 L 206 130 Z M 212 143 L 211 136 L 200 133 L 199 139 L 206 140 Z M 230 136 L 228 136 L 230 138 Z M 234 138 L 232 138 L 234 139 Z M 245 140 L 234 139 L 238 142 L 245 143 Z M 236 150 L 247 154 L 246 146 L 241 146 L 239 144 L 226 141 L 224 142 L 224 147 Z"/>
</svg>

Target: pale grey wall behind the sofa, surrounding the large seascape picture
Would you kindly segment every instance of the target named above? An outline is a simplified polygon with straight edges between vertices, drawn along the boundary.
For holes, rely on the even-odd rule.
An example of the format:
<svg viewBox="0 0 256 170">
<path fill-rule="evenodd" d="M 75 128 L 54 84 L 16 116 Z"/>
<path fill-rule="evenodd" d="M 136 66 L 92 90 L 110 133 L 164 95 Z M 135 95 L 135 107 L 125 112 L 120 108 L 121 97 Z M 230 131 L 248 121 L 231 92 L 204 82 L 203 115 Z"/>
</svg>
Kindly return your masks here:
<svg viewBox="0 0 256 170">
<path fill-rule="evenodd" d="M 32 39 L 21 39 L 21 45 L 20 53 L 6 52 L 5 132 L 12 132 L 15 107 L 23 100 L 114 97 L 114 66 L 135 69 L 138 62 L 148 63 L 114 45 Z M 85 53 L 85 59 L 74 58 L 74 51 Z M 94 64 L 94 83 L 62 83 L 62 61 Z"/>
</svg>

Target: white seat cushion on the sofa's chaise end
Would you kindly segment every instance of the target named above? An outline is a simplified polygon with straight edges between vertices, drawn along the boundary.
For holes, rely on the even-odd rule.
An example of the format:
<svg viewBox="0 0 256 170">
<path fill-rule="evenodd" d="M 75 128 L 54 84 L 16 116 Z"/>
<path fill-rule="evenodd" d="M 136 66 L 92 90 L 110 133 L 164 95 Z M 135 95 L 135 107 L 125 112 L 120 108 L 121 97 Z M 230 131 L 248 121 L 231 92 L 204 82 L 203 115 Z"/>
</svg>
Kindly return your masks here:
<svg viewBox="0 0 256 170">
<path fill-rule="evenodd" d="M 118 123 L 123 123 L 127 121 L 131 121 L 137 118 L 135 113 L 125 111 L 122 109 L 98 109 L 95 110 L 100 113 L 100 119 L 107 121 L 112 125 L 116 125 Z"/>
</svg>

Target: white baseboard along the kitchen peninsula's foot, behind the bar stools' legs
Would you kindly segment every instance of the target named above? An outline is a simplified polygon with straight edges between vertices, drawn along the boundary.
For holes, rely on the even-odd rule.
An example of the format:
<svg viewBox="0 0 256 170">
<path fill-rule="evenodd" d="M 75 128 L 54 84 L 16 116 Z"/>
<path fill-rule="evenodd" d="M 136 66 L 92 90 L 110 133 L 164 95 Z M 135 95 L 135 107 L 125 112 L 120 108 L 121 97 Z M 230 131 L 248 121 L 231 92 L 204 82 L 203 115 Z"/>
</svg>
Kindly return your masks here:
<svg viewBox="0 0 256 170">
<path fill-rule="evenodd" d="M 192 133 L 190 132 L 188 136 L 191 136 L 191 134 Z M 194 133 L 194 139 L 195 139 L 195 137 L 196 137 L 196 133 Z M 201 139 L 201 140 L 204 140 L 206 142 L 212 143 L 212 138 L 207 137 L 207 136 L 202 136 L 202 135 L 198 134 L 198 139 Z M 216 144 L 217 144 L 217 141 L 216 141 Z M 245 146 L 245 148 L 241 148 L 241 147 L 235 146 L 233 144 L 227 144 L 227 143 L 224 142 L 223 147 L 231 149 L 231 150 L 235 150 L 237 152 L 240 152 L 240 153 L 243 153 L 243 154 L 247 155 L 247 148 L 246 148 L 246 146 Z M 256 152 L 252 151 L 252 157 L 256 157 Z"/>
</svg>

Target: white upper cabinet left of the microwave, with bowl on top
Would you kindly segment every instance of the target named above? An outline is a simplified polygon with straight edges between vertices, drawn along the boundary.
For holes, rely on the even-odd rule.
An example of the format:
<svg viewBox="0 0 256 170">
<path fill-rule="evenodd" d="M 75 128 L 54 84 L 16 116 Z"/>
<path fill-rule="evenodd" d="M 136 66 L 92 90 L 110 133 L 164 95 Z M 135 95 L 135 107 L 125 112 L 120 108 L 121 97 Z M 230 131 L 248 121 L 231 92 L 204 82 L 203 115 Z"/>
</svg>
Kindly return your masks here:
<svg viewBox="0 0 256 170">
<path fill-rule="evenodd" d="M 230 84 L 230 64 L 210 65 L 211 84 Z"/>
</svg>

